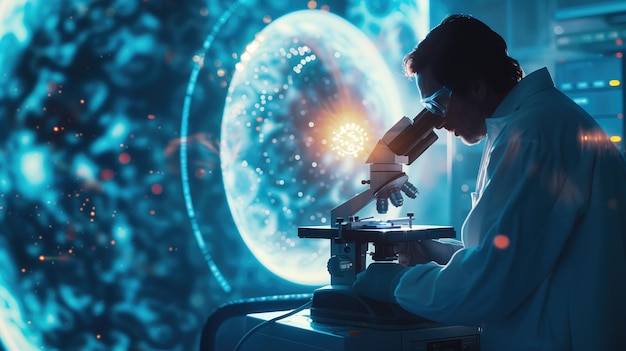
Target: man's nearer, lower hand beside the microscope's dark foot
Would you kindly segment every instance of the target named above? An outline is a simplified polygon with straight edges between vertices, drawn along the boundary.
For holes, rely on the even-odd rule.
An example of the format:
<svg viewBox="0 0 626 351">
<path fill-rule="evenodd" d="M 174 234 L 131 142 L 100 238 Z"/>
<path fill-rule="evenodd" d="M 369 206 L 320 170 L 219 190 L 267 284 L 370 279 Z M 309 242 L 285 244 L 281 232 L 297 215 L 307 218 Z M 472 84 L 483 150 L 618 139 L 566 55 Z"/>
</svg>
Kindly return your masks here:
<svg viewBox="0 0 626 351">
<path fill-rule="evenodd" d="M 394 291 L 407 269 L 397 263 L 372 263 L 357 275 L 354 290 L 372 300 L 396 302 Z"/>
</svg>

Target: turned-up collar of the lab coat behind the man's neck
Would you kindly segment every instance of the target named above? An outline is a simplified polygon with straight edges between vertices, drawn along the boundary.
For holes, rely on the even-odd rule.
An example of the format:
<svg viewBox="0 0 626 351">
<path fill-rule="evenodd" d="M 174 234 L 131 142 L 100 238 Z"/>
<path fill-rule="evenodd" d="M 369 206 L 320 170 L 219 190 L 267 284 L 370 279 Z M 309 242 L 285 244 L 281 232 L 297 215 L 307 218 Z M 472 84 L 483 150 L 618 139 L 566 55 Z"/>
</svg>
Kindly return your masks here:
<svg viewBox="0 0 626 351">
<path fill-rule="evenodd" d="M 485 120 L 487 138 L 494 140 L 502 128 L 512 118 L 513 112 L 532 94 L 554 87 L 552 77 L 546 67 L 538 69 L 524 77 L 500 102 L 491 117 Z"/>
</svg>

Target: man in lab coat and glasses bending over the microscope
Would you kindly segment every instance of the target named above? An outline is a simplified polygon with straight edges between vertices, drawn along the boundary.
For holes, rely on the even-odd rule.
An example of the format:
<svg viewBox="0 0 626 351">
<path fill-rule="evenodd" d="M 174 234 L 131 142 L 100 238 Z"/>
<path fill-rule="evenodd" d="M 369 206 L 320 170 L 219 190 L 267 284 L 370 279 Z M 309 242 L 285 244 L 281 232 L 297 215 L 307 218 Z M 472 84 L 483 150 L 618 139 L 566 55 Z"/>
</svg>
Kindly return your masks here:
<svg viewBox="0 0 626 351">
<path fill-rule="evenodd" d="M 626 350 L 626 165 L 607 135 L 471 16 L 446 18 L 404 63 L 438 128 L 485 139 L 476 191 L 449 261 L 374 263 L 355 289 L 478 326 L 482 350 Z"/>
</svg>

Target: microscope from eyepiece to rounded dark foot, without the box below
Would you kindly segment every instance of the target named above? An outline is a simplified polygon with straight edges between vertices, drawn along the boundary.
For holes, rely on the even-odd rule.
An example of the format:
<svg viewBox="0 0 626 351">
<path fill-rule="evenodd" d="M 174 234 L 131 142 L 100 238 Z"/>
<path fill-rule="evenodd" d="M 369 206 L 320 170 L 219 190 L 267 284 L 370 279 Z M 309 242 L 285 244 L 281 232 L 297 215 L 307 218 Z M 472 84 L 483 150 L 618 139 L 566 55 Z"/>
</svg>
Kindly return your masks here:
<svg viewBox="0 0 626 351">
<path fill-rule="evenodd" d="M 298 228 L 298 237 L 331 240 L 327 268 L 330 285 L 313 294 L 311 318 L 327 323 L 367 324 L 377 327 L 414 326 L 424 322 L 397 305 L 381 304 L 358 296 L 352 291 L 356 275 L 373 261 L 394 261 L 394 247 L 412 241 L 454 238 L 450 226 L 417 225 L 413 213 L 388 220 L 361 219 L 359 211 L 376 202 L 376 211 L 386 214 L 389 203 L 402 206 L 403 194 L 416 198 L 417 188 L 408 181 L 403 165 L 410 165 L 436 140 L 433 131 L 436 116 L 422 110 L 413 120 L 403 117 L 378 141 L 366 163 L 370 179 L 363 180 L 369 188 L 331 210 L 329 226 Z M 373 244 L 373 252 L 368 252 Z"/>
</svg>

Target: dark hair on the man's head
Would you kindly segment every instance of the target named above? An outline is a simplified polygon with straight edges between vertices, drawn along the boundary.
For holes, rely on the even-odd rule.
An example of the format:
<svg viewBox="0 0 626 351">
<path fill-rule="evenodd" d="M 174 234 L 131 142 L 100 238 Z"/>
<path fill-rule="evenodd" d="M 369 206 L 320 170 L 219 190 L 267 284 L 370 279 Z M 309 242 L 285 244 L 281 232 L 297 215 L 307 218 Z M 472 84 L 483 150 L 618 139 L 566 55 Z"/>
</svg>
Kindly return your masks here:
<svg viewBox="0 0 626 351">
<path fill-rule="evenodd" d="M 469 88 L 476 79 L 499 92 L 509 91 L 524 75 L 517 60 L 508 56 L 504 39 L 469 15 L 451 15 L 404 57 L 408 76 L 430 68 L 433 77 L 455 91 Z"/>
</svg>

